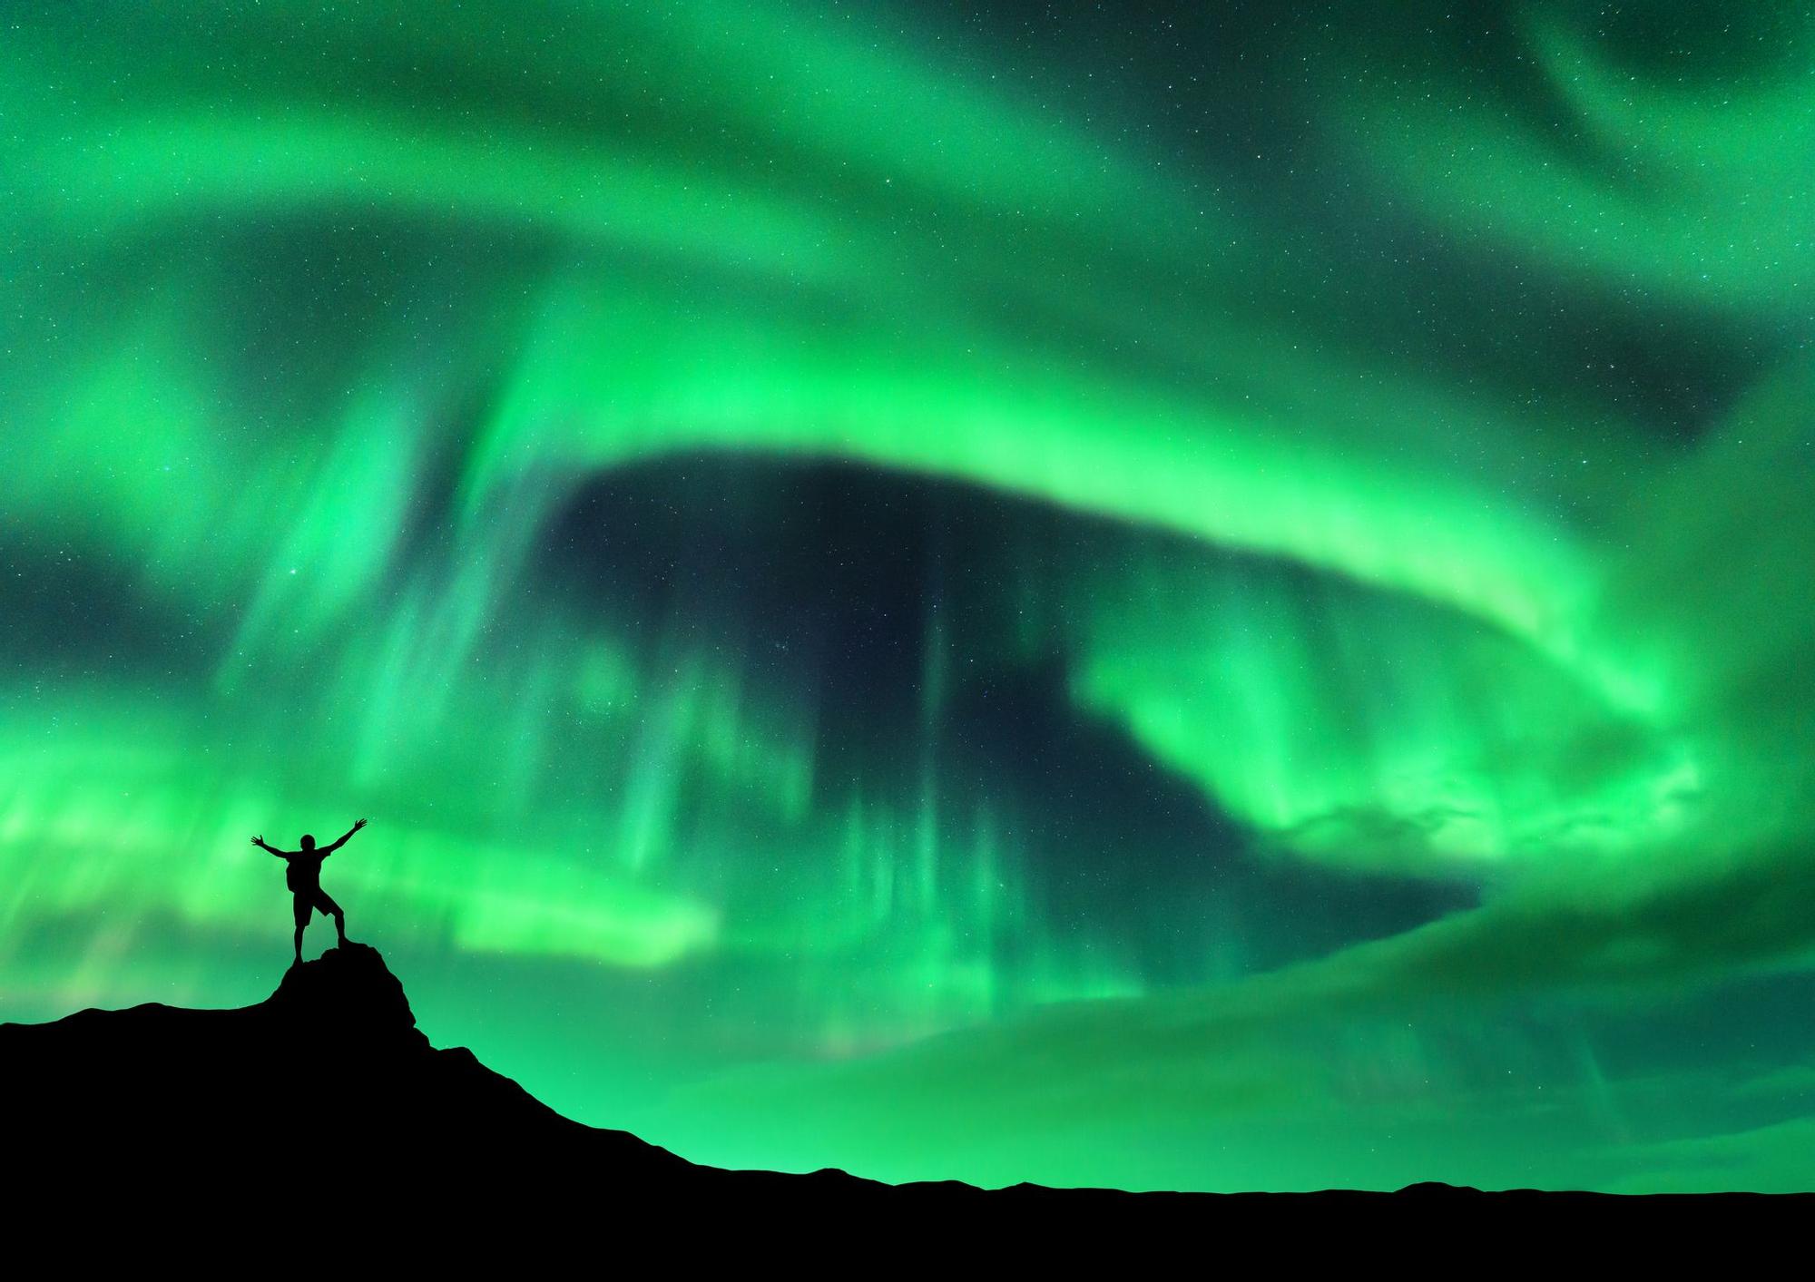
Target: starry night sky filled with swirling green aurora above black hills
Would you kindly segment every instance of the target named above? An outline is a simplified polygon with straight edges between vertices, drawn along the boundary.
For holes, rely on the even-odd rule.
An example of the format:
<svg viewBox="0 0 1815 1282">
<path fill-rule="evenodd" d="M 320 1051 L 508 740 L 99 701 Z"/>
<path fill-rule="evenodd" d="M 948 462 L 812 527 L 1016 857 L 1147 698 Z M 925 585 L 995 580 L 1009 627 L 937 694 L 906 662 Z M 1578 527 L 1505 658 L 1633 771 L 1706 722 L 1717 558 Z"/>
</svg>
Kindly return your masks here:
<svg viewBox="0 0 1815 1282">
<path fill-rule="evenodd" d="M 1815 16 L 1105 9 L 0 7 L 0 1019 L 1815 1188 Z"/>
</svg>

